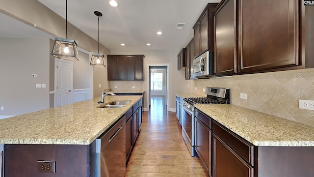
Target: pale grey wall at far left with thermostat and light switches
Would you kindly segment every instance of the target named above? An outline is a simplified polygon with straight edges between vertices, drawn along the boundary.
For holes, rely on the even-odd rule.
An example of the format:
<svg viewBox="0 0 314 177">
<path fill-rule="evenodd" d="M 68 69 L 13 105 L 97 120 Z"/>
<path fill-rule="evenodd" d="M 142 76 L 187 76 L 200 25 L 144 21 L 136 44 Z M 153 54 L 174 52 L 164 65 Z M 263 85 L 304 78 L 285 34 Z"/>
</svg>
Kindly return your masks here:
<svg viewBox="0 0 314 177">
<path fill-rule="evenodd" d="M 0 116 L 49 108 L 49 39 L 1 38 L 0 54 Z"/>
</svg>

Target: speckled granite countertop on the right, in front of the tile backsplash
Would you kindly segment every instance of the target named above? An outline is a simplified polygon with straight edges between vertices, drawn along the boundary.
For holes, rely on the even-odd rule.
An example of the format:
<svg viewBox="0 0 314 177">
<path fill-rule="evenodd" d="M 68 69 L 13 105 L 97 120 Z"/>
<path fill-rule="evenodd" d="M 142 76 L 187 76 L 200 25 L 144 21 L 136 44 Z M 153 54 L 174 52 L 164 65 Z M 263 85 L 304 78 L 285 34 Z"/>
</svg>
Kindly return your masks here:
<svg viewBox="0 0 314 177">
<path fill-rule="evenodd" d="M 314 146 L 314 128 L 235 105 L 195 105 L 255 146 Z"/>
</svg>

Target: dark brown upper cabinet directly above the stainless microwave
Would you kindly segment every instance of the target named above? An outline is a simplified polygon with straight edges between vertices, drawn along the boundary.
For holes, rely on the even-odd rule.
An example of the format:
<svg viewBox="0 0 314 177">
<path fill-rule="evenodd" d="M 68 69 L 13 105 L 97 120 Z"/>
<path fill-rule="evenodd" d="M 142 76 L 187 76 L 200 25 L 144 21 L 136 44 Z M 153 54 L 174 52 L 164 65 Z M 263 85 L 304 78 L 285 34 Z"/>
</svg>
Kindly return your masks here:
<svg viewBox="0 0 314 177">
<path fill-rule="evenodd" d="M 212 12 L 217 4 L 218 3 L 208 3 L 193 26 L 195 42 L 195 55 L 193 59 L 208 50 L 214 49 Z"/>
</svg>

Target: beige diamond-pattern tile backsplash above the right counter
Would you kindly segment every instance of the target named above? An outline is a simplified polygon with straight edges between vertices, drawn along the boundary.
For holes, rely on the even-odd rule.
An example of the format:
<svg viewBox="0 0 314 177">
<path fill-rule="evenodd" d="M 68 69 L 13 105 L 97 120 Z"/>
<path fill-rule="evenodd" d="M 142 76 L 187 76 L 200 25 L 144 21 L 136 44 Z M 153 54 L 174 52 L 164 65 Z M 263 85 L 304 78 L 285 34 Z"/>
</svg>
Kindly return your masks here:
<svg viewBox="0 0 314 177">
<path fill-rule="evenodd" d="M 314 100 L 313 69 L 197 79 L 194 85 L 196 94 L 205 94 L 206 87 L 230 88 L 231 104 L 314 127 L 314 111 L 299 109 L 298 102 Z"/>
</svg>

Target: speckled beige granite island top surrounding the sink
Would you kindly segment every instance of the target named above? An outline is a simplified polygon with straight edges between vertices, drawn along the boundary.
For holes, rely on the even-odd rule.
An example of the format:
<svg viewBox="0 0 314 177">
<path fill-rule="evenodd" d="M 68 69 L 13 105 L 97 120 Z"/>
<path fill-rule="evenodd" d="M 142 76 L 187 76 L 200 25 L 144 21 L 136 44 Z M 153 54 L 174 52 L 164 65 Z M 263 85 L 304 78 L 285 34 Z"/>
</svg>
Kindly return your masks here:
<svg viewBox="0 0 314 177">
<path fill-rule="evenodd" d="M 105 96 L 122 108 L 97 108 L 100 98 L 0 119 L 0 144 L 89 145 L 142 96 Z"/>
</svg>

